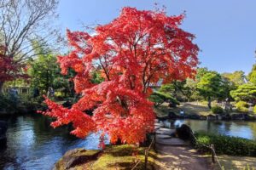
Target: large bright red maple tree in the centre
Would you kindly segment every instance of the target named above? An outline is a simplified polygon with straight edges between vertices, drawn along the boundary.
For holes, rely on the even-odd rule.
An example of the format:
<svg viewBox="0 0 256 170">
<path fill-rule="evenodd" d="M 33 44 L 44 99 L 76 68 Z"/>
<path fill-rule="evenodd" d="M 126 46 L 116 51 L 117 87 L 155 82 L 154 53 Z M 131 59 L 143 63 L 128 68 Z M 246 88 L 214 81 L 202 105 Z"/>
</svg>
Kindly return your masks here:
<svg viewBox="0 0 256 170">
<path fill-rule="evenodd" d="M 111 143 L 142 142 L 154 131 L 149 82 L 193 77 L 198 64 L 195 36 L 179 27 L 183 18 L 183 14 L 123 8 L 117 19 L 96 26 L 93 36 L 67 30 L 72 51 L 58 62 L 62 74 L 68 69 L 76 72 L 73 82 L 81 99 L 71 109 L 46 99 L 49 110 L 44 115 L 56 118 L 51 125 L 73 122 L 71 133 L 79 138 L 100 131 L 108 133 Z M 99 84 L 92 82 L 96 69 L 104 78 Z"/>
</svg>

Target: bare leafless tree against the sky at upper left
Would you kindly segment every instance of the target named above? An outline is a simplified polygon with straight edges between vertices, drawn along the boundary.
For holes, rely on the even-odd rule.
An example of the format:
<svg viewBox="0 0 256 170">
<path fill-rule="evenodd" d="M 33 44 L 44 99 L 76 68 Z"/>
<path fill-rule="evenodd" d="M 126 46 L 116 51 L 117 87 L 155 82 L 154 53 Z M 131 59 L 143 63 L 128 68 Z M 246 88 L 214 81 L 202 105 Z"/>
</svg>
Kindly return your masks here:
<svg viewBox="0 0 256 170">
<path fill-rule="evenodd" d="M 40 45 L 52 41 L 56 31 L 51 27 L 55 19 L 57 0 L 0 0 L 0 44 L 5 47 L 4 56 L 15 64 L 24 64 L 35 56 L 32 40 Z M 56 44 L 55 44 L 56 45 Z M 0 79 L 0 88 L 3 87 Z"/>
</svg>

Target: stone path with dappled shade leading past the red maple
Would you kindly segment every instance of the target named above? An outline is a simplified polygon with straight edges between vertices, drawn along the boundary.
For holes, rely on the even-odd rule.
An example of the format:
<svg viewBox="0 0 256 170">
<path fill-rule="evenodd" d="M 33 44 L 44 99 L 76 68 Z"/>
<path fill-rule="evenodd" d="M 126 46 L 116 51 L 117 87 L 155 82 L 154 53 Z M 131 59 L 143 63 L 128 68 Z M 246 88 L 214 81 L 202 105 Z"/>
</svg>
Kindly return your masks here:
<svg viewBox="0 0 256 170">
<path fill-rule="evenodd" d="M 156 122 L 157 123 L 157 122 Z M 188 142 L 173 138 L 175 129 L 159 127 L 156 124 L 155 149 L 157 151 L 158 169 L 210 170 L 211 162 L 193 150 Z"/>
</svg>

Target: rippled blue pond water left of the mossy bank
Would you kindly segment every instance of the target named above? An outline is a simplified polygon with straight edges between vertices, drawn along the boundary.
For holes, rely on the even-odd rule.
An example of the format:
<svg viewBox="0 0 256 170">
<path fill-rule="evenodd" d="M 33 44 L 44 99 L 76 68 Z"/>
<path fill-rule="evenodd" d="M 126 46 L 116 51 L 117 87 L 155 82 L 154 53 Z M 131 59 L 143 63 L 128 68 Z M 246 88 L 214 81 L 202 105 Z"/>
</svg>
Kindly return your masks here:
<svg viewBox="0 0 256 170">
<path fill-rule="evenodd" d="M 68 127 L 49 127 L 46 116 L 18 116 L 8 120 L 7 148 L 0 150 L 0 169 L 52 169 L 73 148 L 98 149 L 98 135 L 77 139 Z"/>
</svg>

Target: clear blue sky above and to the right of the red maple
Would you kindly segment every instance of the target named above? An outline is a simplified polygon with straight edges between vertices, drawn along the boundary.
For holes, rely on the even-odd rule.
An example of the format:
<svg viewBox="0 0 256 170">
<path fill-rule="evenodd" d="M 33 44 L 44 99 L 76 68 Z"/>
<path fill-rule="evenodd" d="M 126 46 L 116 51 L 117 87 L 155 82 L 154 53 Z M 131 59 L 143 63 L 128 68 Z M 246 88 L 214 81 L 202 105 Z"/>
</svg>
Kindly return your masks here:
<svg viewBox="0 0 256 170">
<path fill-rule="evenodd" d="M 245 71 L 255 63 L 256 1 L 254 0 L 62 0 L 58 12 L 63 31 L 106 24 L 125 6 L 154 9 L 166 6 L 168 15 L 187 17 L 182 28 L 195 34 L 201 48 L 200 66 L 219 72 Z"/>
</svg>

